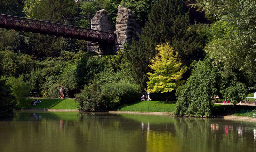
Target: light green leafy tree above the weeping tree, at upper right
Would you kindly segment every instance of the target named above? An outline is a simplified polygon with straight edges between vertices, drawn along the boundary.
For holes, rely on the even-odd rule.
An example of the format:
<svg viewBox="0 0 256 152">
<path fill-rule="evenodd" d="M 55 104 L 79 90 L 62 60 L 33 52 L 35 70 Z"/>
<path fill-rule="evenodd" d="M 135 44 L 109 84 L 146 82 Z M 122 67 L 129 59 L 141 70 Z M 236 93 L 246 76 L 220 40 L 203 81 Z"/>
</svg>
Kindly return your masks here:
<svg viewBox="0 0 256 152">
<path fill-rule="evenodd" d="M 199 0 L 199 9 L 215 21 L 213 40 L 205 51 L 223 63 L 226 75 L 233 68 L 244 72 L 250 85 L 256 82 L 256 2 L 252 0 Z M 214 4 L 214 5 L 211 5 Z M 213 10 L 208 8 L 214 8 Z"/>
</svg>

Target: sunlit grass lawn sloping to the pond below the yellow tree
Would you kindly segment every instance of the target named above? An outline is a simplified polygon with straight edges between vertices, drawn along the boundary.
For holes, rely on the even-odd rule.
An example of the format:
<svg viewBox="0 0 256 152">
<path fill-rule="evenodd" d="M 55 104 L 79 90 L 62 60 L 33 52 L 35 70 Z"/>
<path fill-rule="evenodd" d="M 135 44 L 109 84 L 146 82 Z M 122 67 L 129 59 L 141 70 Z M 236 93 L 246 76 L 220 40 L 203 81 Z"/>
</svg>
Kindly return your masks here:
<svg viewBox="0 0 256 152">
<path fill-rule="evenodd" d="M 136 101 L 132 104 L 117 107 L 117 111 L 137 111 L 137 112 L 172 112 L 175 102 L 165 101 Z"/>
</svg>

